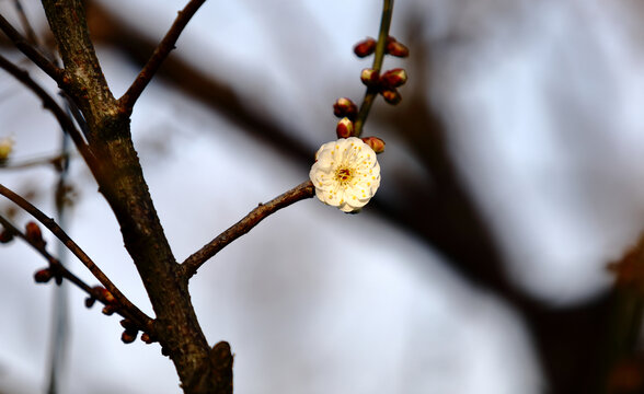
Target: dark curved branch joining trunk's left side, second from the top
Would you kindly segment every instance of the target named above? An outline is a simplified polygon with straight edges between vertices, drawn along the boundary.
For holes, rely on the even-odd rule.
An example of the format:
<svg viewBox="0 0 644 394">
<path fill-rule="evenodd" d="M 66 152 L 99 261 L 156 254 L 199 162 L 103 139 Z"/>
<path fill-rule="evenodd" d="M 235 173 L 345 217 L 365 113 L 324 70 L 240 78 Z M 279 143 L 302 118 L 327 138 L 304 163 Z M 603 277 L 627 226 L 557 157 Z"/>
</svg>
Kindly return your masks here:
<svg viewBox="0 0 644 394">
<path fill-rule="evenodd" d="M 15 66 L 2 55 L 0 55 L 0 68 L 4 69 L 7 72 L 13 76 L 19 82 L 24 84 L 43 101 L 43 106 L 54 114 L 62 130 L 71 137 L 73 143 L 78 148 L 90 169 L 95 169 L 95 160 L 92 152 L 90 151 L 80 131 L 76 128 L 71 118 L 65 113 L 58 103 L 56 103 L 56 100 L 54 100 L 54 97 L 51 97 L 49 93 L 45 91 L 45 89 L 36 83 L 36 81 L 31 78 L 27 71 Z"/>
</svg>

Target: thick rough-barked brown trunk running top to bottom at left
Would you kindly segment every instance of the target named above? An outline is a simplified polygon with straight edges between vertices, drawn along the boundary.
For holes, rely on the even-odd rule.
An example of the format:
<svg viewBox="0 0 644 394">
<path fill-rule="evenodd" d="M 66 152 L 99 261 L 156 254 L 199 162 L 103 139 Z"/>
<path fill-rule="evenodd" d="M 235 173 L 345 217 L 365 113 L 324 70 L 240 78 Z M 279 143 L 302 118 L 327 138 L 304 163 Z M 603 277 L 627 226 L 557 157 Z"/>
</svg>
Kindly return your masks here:
<svg viewBox="0 0 644 394">
<path fill-rule="evenodd" d="M 232 356 L 220 343 L 210 349 L 195 315 L 187 279 L 154 210 L 134 148 L 129 113 L 110 91 L 88 31 L 81 0 L 43 0 L 65 65 L 64 89 L 82 113 L 96 165 L 99 189 L 120 225 L 156 313 L 153 334 L 186 393 L 232 393 Z"/>
</svg>

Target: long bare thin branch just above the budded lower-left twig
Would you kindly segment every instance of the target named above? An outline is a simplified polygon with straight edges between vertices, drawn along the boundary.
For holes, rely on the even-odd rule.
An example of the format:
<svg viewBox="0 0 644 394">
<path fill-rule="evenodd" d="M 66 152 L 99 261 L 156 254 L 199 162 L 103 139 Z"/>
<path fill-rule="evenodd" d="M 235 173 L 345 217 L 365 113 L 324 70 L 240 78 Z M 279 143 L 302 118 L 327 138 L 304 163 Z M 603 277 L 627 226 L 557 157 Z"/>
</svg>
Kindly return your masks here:
<svg viewBox="0 0 644 394">
<path fill-rule="evenodd" d="M 76 257 L 92 273 L 92 275 L 103 285 L 114 296 L 116 301 L 120 304 L 122 308 L 129 311 L 133 316 L 136 317 L 136 321 L 141 324 L 142 326 L 151 326 L 151 318 L 148 317 L 141 310 L 139 310 L 135 304 L 133 304 L 122 292 L 118 288 L 107 278 L 107 276 L 99 268 L 94 262 L 85 254 L 85 252 L 73 242 L 72 239 L 67 235 L 67 233 L 49 217 L 47 217 L 43 211 L 38 208 L 34 207 L 31 202 L 19 196 L 18 194 L 13 193 L 11 189 L 7 188 L 4 185 L 0 184 L 0 195 L 7 197 L 15 205 L 24 209 L 28 212 L 32 217 L 34 217 L 37 221 L 43 223 L 67 248 L 73 253 Z"/>
</svg>

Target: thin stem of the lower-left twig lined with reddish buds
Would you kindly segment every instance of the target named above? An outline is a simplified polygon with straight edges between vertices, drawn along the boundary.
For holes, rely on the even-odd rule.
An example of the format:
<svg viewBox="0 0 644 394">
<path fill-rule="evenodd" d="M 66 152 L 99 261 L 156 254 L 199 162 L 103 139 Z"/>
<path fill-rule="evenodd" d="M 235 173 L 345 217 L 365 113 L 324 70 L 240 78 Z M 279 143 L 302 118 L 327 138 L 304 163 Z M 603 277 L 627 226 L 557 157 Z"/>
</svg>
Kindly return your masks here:
<svg viewBox="0 0 644 394">
<path fill-rule="evenodd" d="M 12 235 L 20 237 L 21 240 L 23 240 L 24 242 L 30 244 L 34 250 L 36 250 L 36 252 L 38 252 L 38 254 L 41 254 L 41 256 L 43 256 L 47 260 L 47 263 L 49 264 L 49 268 L 53 269 L 54 276 L 60 276 L 60 277 L 69 280 L 70 282 L 76 285 L 79 289 L 84 291 L 88 296 L 100 301 L 104 305 L 108 305 L 108 304 L 113 303 L 108 299 L 106 299 L 105 293 L 103 291 L 100 291 L 99 288 L 91 287 L 90 285 L 85 283 L 82 279 L 77 277 L 73 273 L 71 273 L 62 264 L 60 264 L 60 262 L 56 257 L 51 256 L 49 254 L 49 252 L 47 252 L 47 250 L 42 244 L 37 244 L 35 242 L 32 242 L 22 231 L 20 231 L 13 223 L 11 223 L 7 218 L 4 218 L 1 215 L 0 215 L 0 224 L 2 224 L 2 227 L 4 228 L 5 231 L 9 231 Z M 131 313 L 131 311 L 127 310 L 127 309 L 117 309 L 115 311 L 115 313 L 122 315 L 123 317 L 129 318 L 134 322 L 137 322 L 139 324 L 141 324 L 141 323 L 147 324 L 147 322 L 148 322 L 148 321 L 138 322 L 137 316 L 134 315 Z M 149 327 L 151 327 L 149 324 L 141 325 L 141 331 L 143 331 L 143 329 L 148 331 Z"/>
</svg>

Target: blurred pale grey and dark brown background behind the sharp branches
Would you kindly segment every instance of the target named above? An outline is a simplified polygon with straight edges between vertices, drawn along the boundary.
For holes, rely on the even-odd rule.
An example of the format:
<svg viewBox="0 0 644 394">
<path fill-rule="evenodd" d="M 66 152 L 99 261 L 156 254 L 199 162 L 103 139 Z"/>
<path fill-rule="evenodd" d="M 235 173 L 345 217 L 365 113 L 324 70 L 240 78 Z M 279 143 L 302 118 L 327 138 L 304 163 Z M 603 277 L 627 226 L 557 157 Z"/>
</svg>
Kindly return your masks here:
<svg viewBox="0 0 644 394">
<path fill-rule="evenodd" d="M 51 47 L 39 2 L 21 3 Z M 115 96 L 184 4 L 88 1 Z M 352 48 L 377 35 L 381 7 L 240 0 L 197 12 L 133 115 L 177 259 L 307 179 L 317 149 L 335 139 L 333 102 L 361 101 L 359 72 L 371 59 Z M 375 199 L 353 216 L 298 202 L 191 282 L 208 340 L 232 346 L 235 393 L 600 392 L 620 302 L 607 266 L 644 228 L 642 8 L 398 1 L 391 34 L 411 56 L 387 58 L 384 69 L 404 67 L 410 80 L 402 103 L 379 100 L 366 124 L 365 136 L 387 142 Z M 21 26 L 14 0 L 0 0 L 0 13 Z M 4 37 L 0 53 L 56 93 Z M 54 166 L 20 164 L 59 155 L 60 130 L 0 70 L 7 136 L 15 147 L 0 183 L 54 215 Z M 73 153 L 67 183 L 68 232 L 151 313 L 117 223 Z M 0 248 L 0 393 L 44 392 L 53 344 L 66 349 L 61 393 L 180 392 L 159 347 L 123 345 L 118 318 L 85 309 L 76 288 L 68 337 L 53 338 L 57 288 L 32 279 L 44 266 L 21 242 Z M 72 258 L 69 267 L 95 282 Z M 639 390 L 642 375 L 630 378 Z"/>
</svg>

